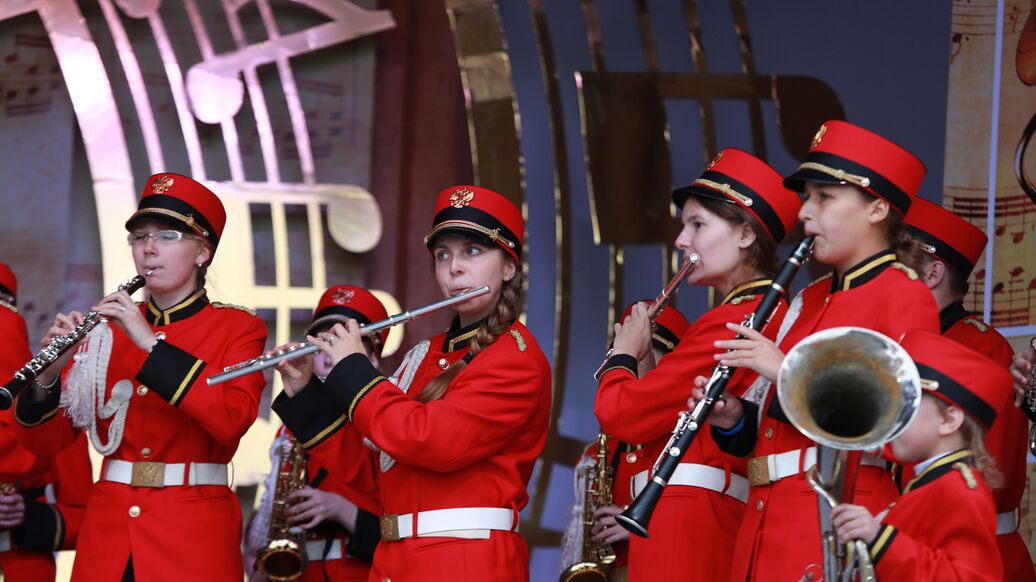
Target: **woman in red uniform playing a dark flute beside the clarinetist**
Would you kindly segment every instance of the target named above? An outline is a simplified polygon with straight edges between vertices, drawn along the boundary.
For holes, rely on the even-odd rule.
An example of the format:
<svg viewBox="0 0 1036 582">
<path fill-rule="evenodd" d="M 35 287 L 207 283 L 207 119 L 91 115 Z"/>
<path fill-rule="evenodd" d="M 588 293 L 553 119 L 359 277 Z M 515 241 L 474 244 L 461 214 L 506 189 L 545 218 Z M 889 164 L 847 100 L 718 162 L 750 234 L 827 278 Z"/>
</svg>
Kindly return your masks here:
<svg viewBox="0 0 1036 582">
<path fill-rule="evenodd" d="M 700 264 L 688 277 L 722 297 L 719 305 L 685 331 L 677 349 L 643 378 L 636 361 L 650 345 L 643 303 L 616 329 L 613 355 L 601 377 L 596 413 L 608 434 L 643 442 L 654 461 L 672 432 L 692 385 L 715 365 L 713 342 L 730 338 L 730 322 L 755 311 L 777 269 L 777 243 L 795 225 L 801 202 L 762 161 L 738 149 L 723 150 L 690 186 L 673 193 L 683 231 L 677 248 L 697 253 Z M 767 333 L 776 333 L 786 301 Z M 731 391 L 740 396 L 755 379 L 738 372 Z M 733 532 L 747 497 L 745 461 L 721 452 L 708 437 L 695 439 L 669 479 L 649 526 L 650 537 L 630 541 L 631 580 L 673 580 L 689 574 L 719 580 L 728 576 Z M 634 476 L 639 493 L 649 471 Z"/>
</svg>

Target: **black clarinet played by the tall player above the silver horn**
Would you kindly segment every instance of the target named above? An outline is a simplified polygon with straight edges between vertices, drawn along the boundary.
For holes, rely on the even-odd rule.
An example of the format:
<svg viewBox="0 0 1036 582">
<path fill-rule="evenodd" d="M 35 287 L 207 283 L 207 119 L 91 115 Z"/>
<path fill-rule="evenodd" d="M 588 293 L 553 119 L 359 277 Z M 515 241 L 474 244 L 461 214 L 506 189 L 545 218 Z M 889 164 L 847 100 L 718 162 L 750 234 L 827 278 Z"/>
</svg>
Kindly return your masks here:
<svg viewBox="0 0 1036 582">
<path fill-rule="evenodd" d="M 767 290 L 767 294 L 762 296 L 762 300 L 759 301 L 755 311 L 742 322 L 743 326 L 756 331 L 766 327 L 777 311 L 781 296 L 786 295 L 786 289 L 792 284 L 792 280 L 795 279 L 795 274 L 799 272 L 799 267 L 808 259 L 814 238 L 813 235 L 810 235 L 802 239 L 792 256 L 781 265 L 777 277 L 774 278 L 770 289 Z M 741 338 L 742 336 L 739 334 L 737 339 Z M 615 516 L 615 521 L 630 533 L 648 537 L 648 524 L 651 522 L 651 516 L 655 513 L 655 507 L 662 497 L 665 486 L 668 485 L 684 455 L 694 442 L 694 438 L 701 431 L 706 420 L 709 419 L 709 414 L 712 413 L 713 407 L 726 389 L 726 385 L 736 371 L 737 368 L 729 366 L 717 365 L 714 367 L 709 382 L 706 384 L 704 398 L 698 401 L 693 410 L 680 414 L 680 420 L 672 430 L 669 442 L 665 444 L 662 454 L 655 461 L 655 466 L 652 467 L 652 477 L 648 485 L 625 512 Z"/>
</svg>

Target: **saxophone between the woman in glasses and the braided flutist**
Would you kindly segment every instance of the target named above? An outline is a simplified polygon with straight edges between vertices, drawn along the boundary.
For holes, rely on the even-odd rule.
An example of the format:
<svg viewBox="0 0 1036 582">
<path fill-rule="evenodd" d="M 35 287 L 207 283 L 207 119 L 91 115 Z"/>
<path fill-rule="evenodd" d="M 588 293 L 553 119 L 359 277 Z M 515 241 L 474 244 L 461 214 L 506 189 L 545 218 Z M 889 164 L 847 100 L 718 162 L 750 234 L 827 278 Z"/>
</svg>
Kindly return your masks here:
<svg viewBox="0 0 1036 582">
<path fill-rule="evenodd" d="M 269 516 L 266 546 L 259 552 L 256 568 L 268 580 L 288 582 L 306 570 L 306 530 L 291 525 L 288 496 L 306 485 L 306 453 L 290 433 L 285 433 L 277 467 L 277 488 Z"/>
</svg>

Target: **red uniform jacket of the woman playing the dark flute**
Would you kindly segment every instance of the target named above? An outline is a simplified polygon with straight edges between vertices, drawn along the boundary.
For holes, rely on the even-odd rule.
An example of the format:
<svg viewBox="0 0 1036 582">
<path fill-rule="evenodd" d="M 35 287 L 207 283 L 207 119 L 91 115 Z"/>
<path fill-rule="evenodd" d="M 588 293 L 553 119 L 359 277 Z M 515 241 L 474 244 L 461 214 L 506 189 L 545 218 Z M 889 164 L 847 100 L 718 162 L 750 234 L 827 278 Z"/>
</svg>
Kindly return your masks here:
<svg viewBox="0 0 1036 582">
<path fill-rule="evenodd" d="M 643 378 L 636 376 L 632 356 L 612 357 L 598 387 L 595 411 L 605 432 L 632 442 L 644 442 L 644 454 L 654 463 L 672 433 L 679 414 L 687 410 L 695 376 L 709 376 L 716 365 L 713 343 L 730 340 L 727 323 L 741 323 L 755 311 L 770 280 L 743 285 L 709 311 L 684 333 L 672 353 Z M 777 334 L 786 309 L 781 301 L 765 333 Z M 750 370 L 735 372 L 728 389 L 741 396 L 755 380 Z M 723 453 L 709 435 L 694 439 L 683 463 L 717 467 L 745 475 L 746 460 Z M 728 478 L 729 481 L 729 478 Z M 630 537 L 630 579 L 670 580 L 695 572 L 702 579 L 729 576 L 735 532 L 745 504 L 708 489 L 670 485 L 653 514 L 650 537 Z"/>
</svg>

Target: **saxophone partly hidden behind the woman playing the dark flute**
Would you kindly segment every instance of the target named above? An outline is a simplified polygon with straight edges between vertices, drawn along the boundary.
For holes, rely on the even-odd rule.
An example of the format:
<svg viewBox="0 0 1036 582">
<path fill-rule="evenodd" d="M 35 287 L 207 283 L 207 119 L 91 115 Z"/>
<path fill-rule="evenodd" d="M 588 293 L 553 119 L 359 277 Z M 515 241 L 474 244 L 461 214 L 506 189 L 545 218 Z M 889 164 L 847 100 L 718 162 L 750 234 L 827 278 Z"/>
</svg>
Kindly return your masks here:
<svg viewBox="0 0 1036 582">
<path fill-rule="evenodd" d="M 608 565 L 615 561 L 615 552 L 604 542 L 595 542 L 594 513 L 611 504 L 611 465 L 608 463 L 608 435 L 597 435 L 596 463 L 586 466 L 583 496 L 583 543 L 579 561 L 565 569 L 560 582 L 607 582 Z"/>
</svg>

